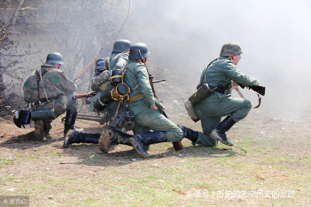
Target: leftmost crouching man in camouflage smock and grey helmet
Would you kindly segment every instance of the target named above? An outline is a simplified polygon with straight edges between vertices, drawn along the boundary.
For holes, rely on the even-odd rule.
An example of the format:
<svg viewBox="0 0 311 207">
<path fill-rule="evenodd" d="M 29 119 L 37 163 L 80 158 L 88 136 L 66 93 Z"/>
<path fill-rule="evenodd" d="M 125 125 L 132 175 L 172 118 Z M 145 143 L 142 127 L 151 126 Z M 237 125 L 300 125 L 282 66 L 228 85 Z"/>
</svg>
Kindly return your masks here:
<svg viewBox="0 0 311 207">
<path fill-rule="evenodd" d="M 35 70 L 24 83 L 24 99 L 28 103 L 35 103 L 32 110 L 54 109 L 55 118 L 62 115 L 66 110 L 66 120 L 64 127 L 64 137 L 70 129 L 83 132 L 83 129 L 74 127 L 78 100 L 72 100 L 72 96 L 77 94 L 78 81 L 68 79 L 61 70 L 64 65 L 64 58 L 58 52 L 49 53 L 46 62 L 41 68 Z M 35 109 L 34 109 L 35 108 Z M 51 119 L 35 121 L 35 136 L 39 139 L 48 134 L 51 126 Z"/>
</svg>

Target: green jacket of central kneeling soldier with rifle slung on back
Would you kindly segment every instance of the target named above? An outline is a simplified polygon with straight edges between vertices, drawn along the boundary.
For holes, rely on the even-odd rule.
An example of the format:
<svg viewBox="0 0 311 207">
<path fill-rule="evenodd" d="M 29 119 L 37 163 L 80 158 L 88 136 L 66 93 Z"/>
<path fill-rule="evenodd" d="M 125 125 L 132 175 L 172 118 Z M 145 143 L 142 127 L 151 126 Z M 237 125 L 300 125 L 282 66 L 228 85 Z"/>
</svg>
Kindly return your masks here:
<svg viewBox="0 0 311 207">
<path fill-rule="evenodd" d="M 152 108 L 156 104 L 158 110 L 162 114 L 163 106 L 160 104 L 160 101 L 153 96 L 146 66 L 137 60 L 129 59 L 128 63 L 124 66 L 123 71 L 128 67 L 128 65 L 131 66 L 128 68 L 123 82 L 127 84 L 130 89 L 135 88 L 135 86 L 139 84 L 139 87 L 135 91 L 130 92 L 128 95 L 130 98 L 139 94 L 142 94 L 143 96 L 143 98 L 131 102 L 129 105 L 130 109 L 132 109 L 133 113 L 137 115 L 139 112 L 148 107 Z"/>
</svg>

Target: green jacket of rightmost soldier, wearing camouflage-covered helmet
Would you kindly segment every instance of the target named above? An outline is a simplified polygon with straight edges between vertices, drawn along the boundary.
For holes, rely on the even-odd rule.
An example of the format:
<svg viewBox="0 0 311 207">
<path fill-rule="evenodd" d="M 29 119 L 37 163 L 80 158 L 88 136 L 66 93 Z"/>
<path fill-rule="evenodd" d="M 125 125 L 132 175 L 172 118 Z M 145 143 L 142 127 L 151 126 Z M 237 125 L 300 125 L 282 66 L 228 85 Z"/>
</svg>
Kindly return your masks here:
<svg viewBox="0 0 311 207">
<path fill-rule="evenodd" d="M 233 61 L 229 60 L 227 57 L 220 56 L 216 61 L 208 66 L 207 70 L 202 71 L 200 83 L 197 85 L 197 89 L 199 89 L 202 84 L 204 84 L 205 72 L 207 72 L 206 82 L 212 88 L 215 88 L 220 84 L 223 85 L 227 83 L 230 79 L 233 80 L 235 83 L 240 83 L 244 86 L 259 86 L 259 82 L 257 79 L 248 74 L 242 73 L 236 68 Z M 206 97 L 201 102 L 219 101 L 222 98 L 231 96 L 231 85 L 232 81 L 228 87 L 228 94 L 213 92 L 210 96 Z"/>
</svg>

